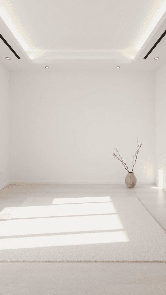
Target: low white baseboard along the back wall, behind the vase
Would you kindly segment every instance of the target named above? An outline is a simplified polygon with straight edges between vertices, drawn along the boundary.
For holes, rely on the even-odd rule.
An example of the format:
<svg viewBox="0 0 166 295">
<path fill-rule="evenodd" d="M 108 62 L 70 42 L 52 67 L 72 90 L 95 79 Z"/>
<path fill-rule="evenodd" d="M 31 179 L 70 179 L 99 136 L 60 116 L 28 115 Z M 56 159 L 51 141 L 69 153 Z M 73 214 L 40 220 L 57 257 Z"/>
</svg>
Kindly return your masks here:
<svg viewBox="0 0 166 295">
<path fill-rule="evenodd" d="M 125 181 L 10 181 L 10 184 L 125 184 Z M 137 181 L 137 184 L 154 184 L 154 181 Z"/>
</svg>

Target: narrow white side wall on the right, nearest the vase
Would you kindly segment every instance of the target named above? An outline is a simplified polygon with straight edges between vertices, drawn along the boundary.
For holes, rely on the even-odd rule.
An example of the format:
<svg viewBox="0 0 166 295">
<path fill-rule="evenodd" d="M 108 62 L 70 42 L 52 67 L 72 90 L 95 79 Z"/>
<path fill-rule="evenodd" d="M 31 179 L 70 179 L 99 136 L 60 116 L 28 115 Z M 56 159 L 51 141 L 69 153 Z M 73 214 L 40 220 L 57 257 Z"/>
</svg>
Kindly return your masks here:
<svg viewBox="0 0 166 295">
<path fill-rule="evenodd" d="M 166 63 L 156 71 L 156 182 L 160 183 L 163 174 L 163 186 L 166 190 Z M 161 172 L 163 171 L 163 172 Z"/>
</svg>

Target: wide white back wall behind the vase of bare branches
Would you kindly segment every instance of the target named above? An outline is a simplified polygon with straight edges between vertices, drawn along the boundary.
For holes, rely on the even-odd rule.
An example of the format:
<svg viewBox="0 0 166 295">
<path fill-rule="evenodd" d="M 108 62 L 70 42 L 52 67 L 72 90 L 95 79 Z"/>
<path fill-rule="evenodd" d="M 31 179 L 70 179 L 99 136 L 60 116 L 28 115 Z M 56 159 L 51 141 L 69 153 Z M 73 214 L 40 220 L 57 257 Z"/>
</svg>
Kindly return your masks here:
<svg viewBox="0 0 166 295">
<path fill-rule="evenodd" d="M 10 72 L 10 181 L 155 181 L 155 73 Z"/>
</svg>

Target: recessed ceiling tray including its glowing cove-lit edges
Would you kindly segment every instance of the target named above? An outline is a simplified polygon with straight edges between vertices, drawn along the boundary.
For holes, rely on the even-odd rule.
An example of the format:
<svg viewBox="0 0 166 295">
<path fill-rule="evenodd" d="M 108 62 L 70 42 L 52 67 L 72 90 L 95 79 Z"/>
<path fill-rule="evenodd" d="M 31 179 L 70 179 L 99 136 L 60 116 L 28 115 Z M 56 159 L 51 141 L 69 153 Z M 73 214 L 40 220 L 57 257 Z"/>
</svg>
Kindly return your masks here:
<svg viewBox="0 0 166 295">
<path fill-rule="evenodd" d="M 163 0 L 1 0 L 0 16 L 31 59 L 72 51 L 86 52 L 76 58 L 134 59 L 165 6 Z"/>
</svg>

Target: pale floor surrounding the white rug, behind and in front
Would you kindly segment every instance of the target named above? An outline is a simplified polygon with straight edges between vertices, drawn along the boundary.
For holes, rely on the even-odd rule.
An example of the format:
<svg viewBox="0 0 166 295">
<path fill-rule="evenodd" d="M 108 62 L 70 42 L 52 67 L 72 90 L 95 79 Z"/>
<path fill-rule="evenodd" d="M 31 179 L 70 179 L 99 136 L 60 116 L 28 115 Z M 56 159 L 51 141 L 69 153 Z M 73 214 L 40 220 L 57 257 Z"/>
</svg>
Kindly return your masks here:
<svg viewBox="0 0 166 295">
<path fill-rule="evenodd" d="M 59 185 L 60 188 L 61 185 Z M 166 232 L 166 191 L 155 184 L 63 185 L 65 188 L 109 189 L 133 194 Z M 57 185 L 9 185 L 0 190 L 0 211 L 19 207 L 29 194 Z M 5 212 L 5 211 L 4 211 Z M 0 225 L 5 221 L 0 221 Z M 0 263 L 0 295 L 166 295 L 166 263 Z"/>
</svg>

